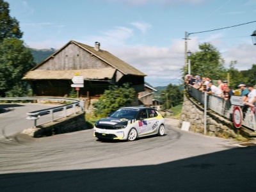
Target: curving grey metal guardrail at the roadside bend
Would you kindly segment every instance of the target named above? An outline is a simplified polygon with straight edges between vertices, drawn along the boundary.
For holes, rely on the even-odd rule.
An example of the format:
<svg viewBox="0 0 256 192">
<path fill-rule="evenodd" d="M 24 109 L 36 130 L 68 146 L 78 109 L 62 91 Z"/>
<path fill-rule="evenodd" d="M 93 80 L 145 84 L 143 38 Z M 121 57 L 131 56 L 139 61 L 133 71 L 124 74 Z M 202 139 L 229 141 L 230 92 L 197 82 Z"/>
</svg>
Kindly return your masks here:
<svg viewBox="0 0 256 192">
<path fill-rule="evenodd" d="M 67 117 L 67 109 L 73 108 L 73 114 L 77 113 L 76 106 L 80 107 L 80 111 L 84 110 L 84 100 L 64 98 L 64 97 L 5 97 L 5 98 L 0 98 L 0 100 L 62 100 L 62 101 L 73 102 L 72 104 L 66 104 L 66 105 L 58 106 L 54 108 L 28 112 L 27 113 L 28 117 L 26 119 L 34 120 L 34 127 L 36 127 L 36 120 L 38 120 L 40 116 L 50 114 L 51 122 L 53 122 L 54 113 L 58 111 L 64 111 L 65 117 Z"/>
</svg>

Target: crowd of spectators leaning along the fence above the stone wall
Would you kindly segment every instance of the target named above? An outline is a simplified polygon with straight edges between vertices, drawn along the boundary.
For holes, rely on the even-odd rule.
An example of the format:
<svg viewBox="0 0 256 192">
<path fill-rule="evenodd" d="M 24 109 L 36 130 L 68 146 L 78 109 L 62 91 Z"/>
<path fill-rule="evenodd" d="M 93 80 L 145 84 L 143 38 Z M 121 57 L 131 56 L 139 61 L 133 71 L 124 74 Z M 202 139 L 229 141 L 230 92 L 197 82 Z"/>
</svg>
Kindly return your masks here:
<svg viewBox="0 0 256 192">
<path fill-rule="evenodd" d="M 228 82 L 221 81 L 220 79 L 217 81 L 218 84 L 214 85 L 209 77 L 191 76 L 188 74 L 185 76 L 185 83 L 201 92 L 217 95 L 225 100 L 229 100 L 234 95 L 234 91 L 228 86 Z M 253 88 L 253 85 L 240 83 L 237 85 L 237 88 L 241 90 L 240 95 L 237 96 L 243 97 L 244 105 L 255 106 L 256 90 Z"/>
</svg>

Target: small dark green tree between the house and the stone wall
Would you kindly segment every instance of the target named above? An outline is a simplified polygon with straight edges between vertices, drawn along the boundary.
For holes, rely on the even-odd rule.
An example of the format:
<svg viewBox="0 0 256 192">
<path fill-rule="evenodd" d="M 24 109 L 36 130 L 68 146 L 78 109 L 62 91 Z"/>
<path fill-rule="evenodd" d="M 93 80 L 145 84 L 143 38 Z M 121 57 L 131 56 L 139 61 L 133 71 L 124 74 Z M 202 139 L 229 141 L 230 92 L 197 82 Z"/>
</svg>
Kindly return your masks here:
<svg viewBox="0 0 256 192">
<path fill-rule="evenodd" d="M 179 85 L 168 84 L 165 92 L 162 92 L 163 109 L 170 109 L 182 103 L 183 91 L 180 87 Z"/>
</svg>

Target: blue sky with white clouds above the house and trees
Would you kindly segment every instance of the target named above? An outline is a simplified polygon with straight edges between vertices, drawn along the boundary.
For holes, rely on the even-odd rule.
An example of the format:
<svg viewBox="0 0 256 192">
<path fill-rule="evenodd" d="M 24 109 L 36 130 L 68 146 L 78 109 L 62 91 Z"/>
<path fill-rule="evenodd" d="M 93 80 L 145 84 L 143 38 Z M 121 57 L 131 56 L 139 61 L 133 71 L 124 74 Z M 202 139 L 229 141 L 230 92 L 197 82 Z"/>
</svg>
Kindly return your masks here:
<svg viewBox="0 0 256 192">
<path fill-rule="evenodd" d="M 193 53 L 206 42 L 220 52 L 226 68 L 232 60 L 238 70 L 256 63 L 251 38 L 256 0 L 4 1 L 28 47 L 60 49 L 70 40 L 94 47 L 100 42 L 100 49 L 147 74 L 145 82 L 154 87 L 182 80 L 186 31 Z"/>
</svg>

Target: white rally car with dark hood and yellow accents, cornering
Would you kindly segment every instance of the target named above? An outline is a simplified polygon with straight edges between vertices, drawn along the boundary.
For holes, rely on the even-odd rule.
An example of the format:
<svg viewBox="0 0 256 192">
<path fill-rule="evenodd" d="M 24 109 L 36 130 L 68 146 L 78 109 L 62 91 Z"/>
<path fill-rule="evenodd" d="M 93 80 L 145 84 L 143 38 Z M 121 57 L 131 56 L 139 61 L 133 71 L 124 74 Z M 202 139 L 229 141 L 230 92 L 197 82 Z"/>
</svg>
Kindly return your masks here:
<svg viewBox="0 0 256 192">
<path fill-rule="evenodd" d="M 165 132 L 164 117 L 153 108 L 120 108 L 93 127 L 93 136 L 99 139 L 128 140 Z"/>
</svg>

